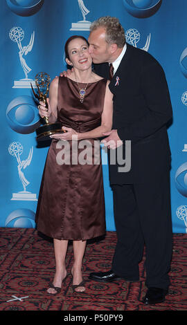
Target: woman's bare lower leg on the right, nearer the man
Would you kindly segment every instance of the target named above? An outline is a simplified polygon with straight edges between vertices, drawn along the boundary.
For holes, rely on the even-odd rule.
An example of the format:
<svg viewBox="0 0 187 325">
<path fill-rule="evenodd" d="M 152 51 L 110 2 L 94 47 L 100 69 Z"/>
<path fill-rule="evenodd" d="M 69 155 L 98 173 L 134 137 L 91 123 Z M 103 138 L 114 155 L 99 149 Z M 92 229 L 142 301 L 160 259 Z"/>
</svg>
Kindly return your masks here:
<svg viewBox="0 0 187 325">
<path fill-rule="evenodd" d="M 82 282 L 82 259 L 84 257 L 87 241 L 73 241 L 74 263 L 71 269 L 73 275 L 73 285 Z M 75 291 L 82 292 L 85 290 L 84 286 L 76 288 Z"/>
</svg>

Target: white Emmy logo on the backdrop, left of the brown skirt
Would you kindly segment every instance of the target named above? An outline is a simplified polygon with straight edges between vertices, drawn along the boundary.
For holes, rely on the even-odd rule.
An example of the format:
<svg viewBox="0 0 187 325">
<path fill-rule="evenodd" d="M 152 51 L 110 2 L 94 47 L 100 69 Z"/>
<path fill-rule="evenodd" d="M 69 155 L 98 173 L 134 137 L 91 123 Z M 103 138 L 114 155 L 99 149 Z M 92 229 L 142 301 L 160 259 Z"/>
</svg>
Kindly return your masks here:
<svg viewBox="0 0 187 325">
<path fill-rule="evenodd" d="M 24 191 L 13 193 L 11 200 L 15 201 L 37 201 L 36 194 L 33 194 L 31 192 L 26 191 L 26 186 L 30 184 L 26 177 L 24 176 L 24 172 L 22 169 L 26 169 L 28 165 L 30 165 L 30 162 L 33 158 L 33 147 L 30 149 L 28 158 L 26 160 L 21 160 L 20 156 L 23 153 L 24 148 L 21 145 L 20 142 L 12 142 L 10 146 L 8 147 L 8 152 L 12 157 L 15 157 L 17 159 L 17 170 L 19 174 L 19 179 L 21 180 L 21 184 L 24 187 Z"/>
</svg>

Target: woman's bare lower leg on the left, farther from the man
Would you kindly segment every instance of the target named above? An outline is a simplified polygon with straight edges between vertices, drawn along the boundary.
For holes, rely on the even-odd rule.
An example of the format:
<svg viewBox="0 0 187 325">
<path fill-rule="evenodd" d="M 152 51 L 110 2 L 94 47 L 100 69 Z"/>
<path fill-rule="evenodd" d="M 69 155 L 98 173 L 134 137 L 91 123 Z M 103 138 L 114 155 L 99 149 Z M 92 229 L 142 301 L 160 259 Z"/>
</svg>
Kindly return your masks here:
<svg viewBox="0 0 187 325">
<path fill-rule="evenodd" d="M 53 285 L 57 287 L 62 286 L 62 281 L 64 277 L 66 277 L 66 251 L 68 246 L 68 241 L 60 241 L 58 239 L 54 239 L 54 250 L 55 250 L 55 277 L 53 279 Z M 56 290 L 54 288 L 48 288 L 48 293 L 55 294 Z"/>
</svg>

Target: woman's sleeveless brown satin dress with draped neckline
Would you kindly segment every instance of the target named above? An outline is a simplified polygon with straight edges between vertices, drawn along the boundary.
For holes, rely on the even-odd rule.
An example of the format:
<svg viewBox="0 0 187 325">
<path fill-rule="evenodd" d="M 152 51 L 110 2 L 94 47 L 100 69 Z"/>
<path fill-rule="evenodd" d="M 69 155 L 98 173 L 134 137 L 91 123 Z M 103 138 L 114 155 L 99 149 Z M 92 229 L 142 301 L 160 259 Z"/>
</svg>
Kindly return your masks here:
<svg viewBox="0 0 187 325">
<path fill-rule="evenodd" d="M 90 131 L 100 126 L 107 80 L 90 83 L 84 102 L 80 102 L 78 84 L 67 77 L 59 77 L 57 120 L 78 132 Z M 86 84 L 80 84 L 85 87 Z M 62 141 L 52 140 L 48 149 L 35 221 L 37 230 L 54 239 L 87 240 L 105 234 L 105 198 L 99 139 L 91 143 L 91 157 L 84 156 L 86 147 L 79 148 L 82 140 L 69 141 L 70 164 L 59 164 L 63 159 Z M 86 142 L 87 142 L 86 140 Z M 84 140 L 85 141 L 85 140 Z M 94 149 L 94 141 L 97 148 Z M 72 160 L 78 152 L 87 160 L 84 165 Z M 94 164 L 95 151 L 95 164 Z M 63 151 L 64 155 L 66 151 Z M 57 163 L 58 161 L 58 163 Z M 72 163 L 73 161 L 73 163 Z"/>
</svg>

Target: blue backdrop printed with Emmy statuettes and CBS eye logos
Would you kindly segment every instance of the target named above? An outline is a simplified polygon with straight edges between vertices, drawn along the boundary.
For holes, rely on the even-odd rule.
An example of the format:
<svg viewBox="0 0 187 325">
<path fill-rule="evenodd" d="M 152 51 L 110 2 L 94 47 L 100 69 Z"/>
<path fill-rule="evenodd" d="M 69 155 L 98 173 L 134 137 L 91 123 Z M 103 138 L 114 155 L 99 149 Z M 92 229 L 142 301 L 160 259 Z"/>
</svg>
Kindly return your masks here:
<svg viewBox="0 0 187 325">
<path fill-rule="evenodd" d="M 39 115 L 30 82 L 40 71 L 51 80 L 64 71 L 66 39 L 88 37 L 90 23 L 110 15 L 121 21 L 127 42 L 147 50 L 166 73 L 174 116 L 172 225 L 173 232 L 186 232 L 186 10 L 186 0 L 1 0 L 1 227 L 35 227 L 48 147 L 35 140 Z M 103 161 L 107 230 L 115 230 L 105 155 Z"/>
</svg>

